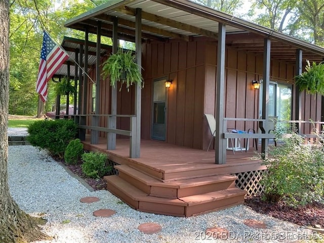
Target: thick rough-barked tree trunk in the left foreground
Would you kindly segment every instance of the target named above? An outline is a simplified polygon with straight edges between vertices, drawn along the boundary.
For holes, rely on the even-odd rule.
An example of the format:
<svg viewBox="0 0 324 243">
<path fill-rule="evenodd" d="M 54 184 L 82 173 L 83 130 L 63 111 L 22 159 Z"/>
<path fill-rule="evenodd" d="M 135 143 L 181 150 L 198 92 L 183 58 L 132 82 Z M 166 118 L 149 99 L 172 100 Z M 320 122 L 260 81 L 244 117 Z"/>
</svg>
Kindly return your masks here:
<svg viewBox="0 0 324 243">
<path fill-rule="evenodd" d="M 0 1 L 0 242 L 28 242 L 44 238 L 39 219 L 19 209 L 8 186 L 9 1 Z"/>
</svg>

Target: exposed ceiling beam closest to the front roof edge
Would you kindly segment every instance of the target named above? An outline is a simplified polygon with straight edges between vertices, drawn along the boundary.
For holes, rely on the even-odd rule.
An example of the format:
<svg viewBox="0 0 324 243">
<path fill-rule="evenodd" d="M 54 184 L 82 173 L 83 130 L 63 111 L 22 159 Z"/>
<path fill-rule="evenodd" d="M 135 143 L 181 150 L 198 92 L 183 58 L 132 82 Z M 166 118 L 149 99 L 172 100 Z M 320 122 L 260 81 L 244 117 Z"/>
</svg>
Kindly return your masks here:
<svg viewBox="0 0 324 243">
<path fill-rule="evenodd" d="M 124 14 L 132 15 L 132 16 L 135 16 L 135 13 L 136 13 L 135 9 L 127 7 L 127 6 L 119 7 L 119 8 L 116 8 L 115 10 L 118 11 L 118 12 L 124 13 Z M 192 26 L 192 25 L 189 25 L 189 24 L 185 24 L 185 23 L 182 23 L 182 22 L 179 22 L 179 21 L 175 21 L 175 20 L 168 19 L 168 18 L 165 18 L 165 17 L 162 17 L 162 16 L 158 16 L 158 15 L 155 15 L 155 14 L 147 13 L 147 12 L 144 12 L 144 11 L 142 11 L 142 19 L 146 19 L 146 20 L 153 21 L 153 22 L 156 22 L 156 23 L 168 25 L 168 26 L 178 28 L 178 29 L 181 29 L 181 30 L 185 30 L 185 31 L 188 31 L 188 32 L 200 34 L 201 36 L 206 36 L 206 37 L 210 37 L 210 38 L 213 38 L 213 39 L 218 38 L 218 34 L 213 32 L 213 31 L 206 30 L 206 29 L 203 29 L 203 28 L 199 28 L 199 27 L 196 27 L 196 26 Z M 215 26 L 215 29 L 216 29 L 216 26 Z"/>
</svg>

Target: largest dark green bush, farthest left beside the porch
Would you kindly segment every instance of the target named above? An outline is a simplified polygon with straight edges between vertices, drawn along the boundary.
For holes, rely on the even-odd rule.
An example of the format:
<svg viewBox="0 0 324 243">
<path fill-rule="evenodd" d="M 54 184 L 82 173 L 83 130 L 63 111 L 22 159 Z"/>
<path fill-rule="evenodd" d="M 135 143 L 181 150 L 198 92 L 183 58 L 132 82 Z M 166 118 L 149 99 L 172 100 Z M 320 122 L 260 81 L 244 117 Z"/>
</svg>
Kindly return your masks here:
<svg viewBox="0 0 324 243">
<path fill-rule="evenodd" d="M 73 120 L 39 120 L 28 125 L 27 141 L 31 145 L 48 149 L 52 155 L 63 158 L 69 142 L 76 136 L 77 128 Z"/>
</svg>

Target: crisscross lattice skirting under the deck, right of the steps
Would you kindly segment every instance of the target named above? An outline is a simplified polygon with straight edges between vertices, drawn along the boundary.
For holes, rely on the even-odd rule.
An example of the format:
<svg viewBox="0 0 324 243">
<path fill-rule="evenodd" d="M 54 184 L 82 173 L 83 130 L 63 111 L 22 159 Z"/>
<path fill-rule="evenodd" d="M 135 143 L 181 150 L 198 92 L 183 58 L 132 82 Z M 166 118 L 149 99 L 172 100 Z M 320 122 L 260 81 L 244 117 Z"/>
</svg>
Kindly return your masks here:
<svg viewBox="0 0 324 243">
<path fill-rule="evenodd" d="M 235 181 L 237 188 L 248 192 L 247 196 L 261 195 L 264 186 L 260 184 L 260 180 L 265 170 L 247 171 L 234 174 L 238 177 Z"/>
</svg>

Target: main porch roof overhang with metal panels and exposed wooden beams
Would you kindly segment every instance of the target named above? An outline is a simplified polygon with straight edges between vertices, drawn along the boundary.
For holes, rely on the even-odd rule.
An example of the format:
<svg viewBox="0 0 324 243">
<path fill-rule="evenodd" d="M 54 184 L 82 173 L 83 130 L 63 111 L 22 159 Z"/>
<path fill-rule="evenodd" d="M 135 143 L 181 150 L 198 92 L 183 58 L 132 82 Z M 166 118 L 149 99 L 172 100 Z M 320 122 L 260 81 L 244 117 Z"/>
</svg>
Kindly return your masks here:
<svg viewBox="0 0 324 243">
<path fill-rule="evenodd" d="M 303 50 L 304 61 L 319 62 L 324 57 L 319 46 L 187 0 L 112 0 L 68 20 L 64 26 L 96 33 L 101 21 L 101 34 L 112 37 L 112 21 L 117 17 L 118 39 L 134 42 L 137 8 L 142 10 L 142 41 L 189 41 L 201 36 L 217 40 L 218 24 L 223 23 L 226 43 L 233 48 L 262 55 L 263 40 L 269 38 L 271 58 L 295 62 L 296 49 Z"/>
</svg>

